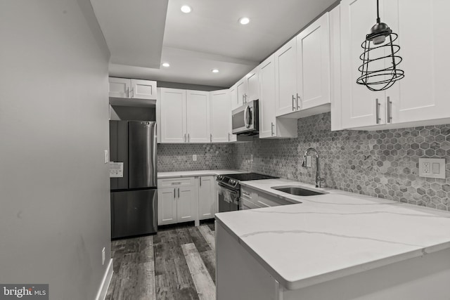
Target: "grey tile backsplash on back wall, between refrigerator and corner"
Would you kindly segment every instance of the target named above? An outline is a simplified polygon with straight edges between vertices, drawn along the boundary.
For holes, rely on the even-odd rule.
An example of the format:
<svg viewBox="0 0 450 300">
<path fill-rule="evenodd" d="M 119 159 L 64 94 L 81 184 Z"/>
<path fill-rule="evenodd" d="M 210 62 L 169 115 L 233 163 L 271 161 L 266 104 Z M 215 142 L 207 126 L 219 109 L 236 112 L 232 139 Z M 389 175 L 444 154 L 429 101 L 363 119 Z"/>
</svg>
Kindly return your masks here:
<svg viewBox="0 0 450 300">
<path fill-rule="evenodd" d="M 192 155 L 197 155 L 193 162 Z M 233 169 L 232 144 L 158 144 L 158 171 Z"/>
</svg>

